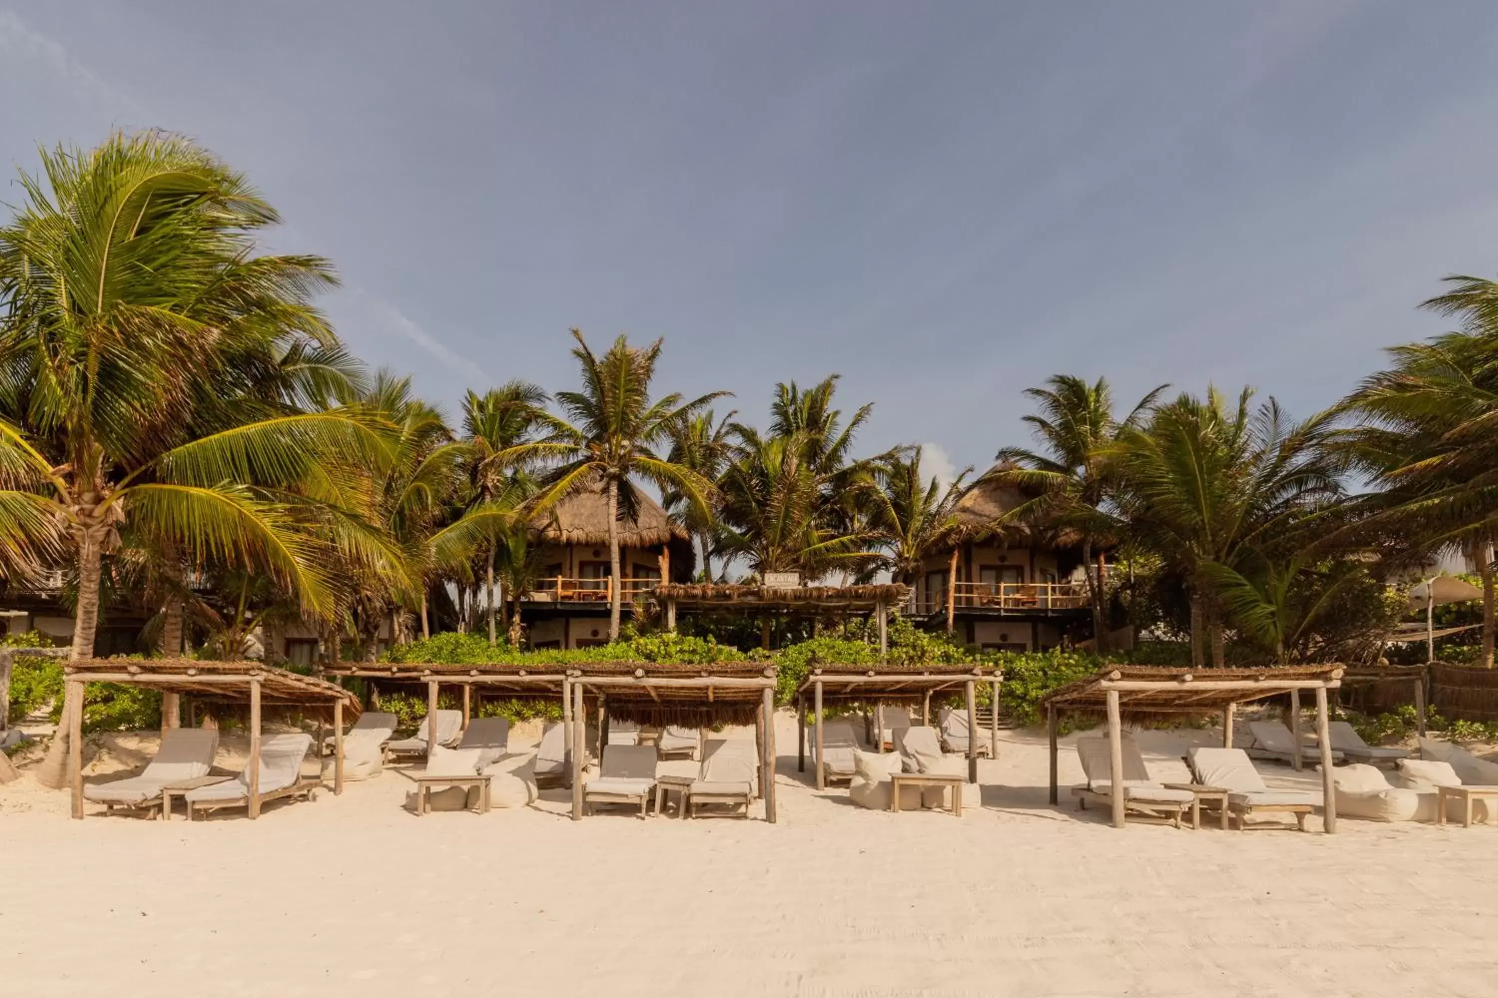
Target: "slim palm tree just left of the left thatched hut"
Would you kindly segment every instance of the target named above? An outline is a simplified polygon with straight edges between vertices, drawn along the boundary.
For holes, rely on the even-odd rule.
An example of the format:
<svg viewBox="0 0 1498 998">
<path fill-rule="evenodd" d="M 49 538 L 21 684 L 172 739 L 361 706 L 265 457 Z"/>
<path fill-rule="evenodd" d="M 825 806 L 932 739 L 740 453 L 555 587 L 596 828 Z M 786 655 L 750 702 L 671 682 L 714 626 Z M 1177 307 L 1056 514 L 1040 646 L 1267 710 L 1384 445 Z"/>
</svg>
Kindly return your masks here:
<svg viewBox="0 0 1498 998">
<path fill-rule="evenodd" d="M 544 426 L 547 394 L 529 382 L 509 382 L 484 395 L 469 392 L 463 399 L 463 432 L 472 455 L 469 474 L 475 500 L 488 504 L 505 492 L 523 494 L 520 477 L 526 464 L 515 447 L 533 443 Z M 518 491 L 518 492 L 517 492 Z M 494 643 L 494 555 L 500 536 L 488 542 L 488 643 Z"/>
</svg>

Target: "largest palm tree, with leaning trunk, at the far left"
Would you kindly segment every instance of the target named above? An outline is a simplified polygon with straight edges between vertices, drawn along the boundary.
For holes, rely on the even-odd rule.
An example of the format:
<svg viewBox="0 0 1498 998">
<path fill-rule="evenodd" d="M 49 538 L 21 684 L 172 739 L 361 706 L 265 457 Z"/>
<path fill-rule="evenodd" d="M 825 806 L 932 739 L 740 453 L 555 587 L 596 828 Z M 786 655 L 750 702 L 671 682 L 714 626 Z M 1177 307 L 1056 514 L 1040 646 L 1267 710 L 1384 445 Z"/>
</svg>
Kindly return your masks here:
<svg viewBox="0 0 1498 998">
<path fill-rule="evenodd" d="M 102 557 L 129 518 L 189 563 L 256 564 L 327 612 L 315 546 L 280 503 L 249 482 L 301 480 L 333 450 L 374 458 L 367 420 L 345 411 L 285 413 L 213 391 L 232 361 L 286 344 L 331 347 L 309 305 L 334 283 L 318 257 L 253 256 L 274 209 L 244 178 L 190 142 L 114 135 L 91 153 L 43 150 L 40 178 L 0 229 L 0 504 L 19 531 L 60 524 L 76 564 L 72 657 L 93 655 Z M 249 419 L 247 419 L 249 417 Z M 192 438 L 205 423 L 216 432 Z M 228 423 L 228 425 L 225 425 Z M 13 543 L 13 540 L 10 540 Z M 64 702 L 61 732 L 81 711 Z M 60 786 L 66 735 L 39 778 Z"/>
</svg>

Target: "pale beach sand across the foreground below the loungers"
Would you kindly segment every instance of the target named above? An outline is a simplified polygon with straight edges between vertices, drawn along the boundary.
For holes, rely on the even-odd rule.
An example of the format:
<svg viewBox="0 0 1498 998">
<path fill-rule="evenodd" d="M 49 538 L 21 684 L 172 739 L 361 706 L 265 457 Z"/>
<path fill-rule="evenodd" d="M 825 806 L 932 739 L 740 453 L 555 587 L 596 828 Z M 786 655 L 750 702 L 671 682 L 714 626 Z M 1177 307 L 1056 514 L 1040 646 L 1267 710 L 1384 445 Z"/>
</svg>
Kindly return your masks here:
<svg viewBox="0 0 1498 998">
<path fill-rule="evenodd" d="M 70 821 L 24 777 L 0 787 L 0 994 L 1498 994 L 1498 827 L 1115 830 L 1046 803 L 1038 732 L 1001 733 L 960 820 L 870 812 L 807 786 L 777 723 L 774 826 L 574 823 L 562 790 L 416 818 L 394 771 L 253 823 Z M 1183 778 L 1215 733 L 1138 738 Z M 136 762 L 114 745 L 96 768 Z"/>
</svg>

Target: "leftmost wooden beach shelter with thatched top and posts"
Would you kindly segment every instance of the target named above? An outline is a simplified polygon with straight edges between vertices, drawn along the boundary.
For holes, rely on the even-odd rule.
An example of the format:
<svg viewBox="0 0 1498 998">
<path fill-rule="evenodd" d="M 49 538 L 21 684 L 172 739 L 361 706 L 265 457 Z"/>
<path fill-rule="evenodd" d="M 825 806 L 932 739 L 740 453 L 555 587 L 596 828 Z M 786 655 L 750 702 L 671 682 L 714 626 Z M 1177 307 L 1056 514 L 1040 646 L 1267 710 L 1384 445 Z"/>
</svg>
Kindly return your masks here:
<svg viewBox="0 0 1498 998">
<path fill-rule="evenodd" d="M 250 818 L 261 815 L 261 708 L 286 706 L 330 711 L 334 738 L 333 792 L 343 793 L 343 718 L 358 720 L 358 697 L 343 687 L 259 661 L 196 661 L 193 658 L 85 658 L 63 666 L 63 681 L 82 703 L 90 682 L 123 682 L 162 691 L 162 727 L 181 727 L 181 697 L 250 706 Z M 67 732 L 67 777 L 73 817 L 84 817 L 82 711 Z"/>
</svg>

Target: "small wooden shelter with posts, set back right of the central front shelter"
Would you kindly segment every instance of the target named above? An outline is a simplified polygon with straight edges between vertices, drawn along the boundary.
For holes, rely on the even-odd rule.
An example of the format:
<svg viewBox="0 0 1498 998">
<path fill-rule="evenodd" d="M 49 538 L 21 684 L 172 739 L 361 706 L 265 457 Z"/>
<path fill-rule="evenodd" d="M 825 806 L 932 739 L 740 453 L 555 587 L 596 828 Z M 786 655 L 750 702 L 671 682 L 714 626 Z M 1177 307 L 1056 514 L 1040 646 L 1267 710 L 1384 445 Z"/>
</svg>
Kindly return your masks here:
<svg viewBox="0 0 1498 998">
<path fill-rule="evenodd" d="M 993 711 L 989 717 L 990 748 L 996 753 L 999 741 L 999 682 L 1004 673 L 992 666 L 977 666 L 968 672 L 951 667 L 900 667 L 900 666 L 851 666 L 822 664 L 795 691 L 797 751 L 795 768 L 806 772 L 806 700 L 810 697 L 816 747 L 816 789 L 827 787 L 822 760 L 822 708 L 828 703 L 873 703 L 878 711 L 884 703 L 921 703 L 921 724 L 930 724 L 932 694 L 962 690 L 968 706 L 968 781 L 978 781 L 978 721 L 977 685 L 993 687 Z M 882 718 L 881 718 L 882 727 Z M 879 751 L 884 739 L 879 738 Z"/>
</svg>

